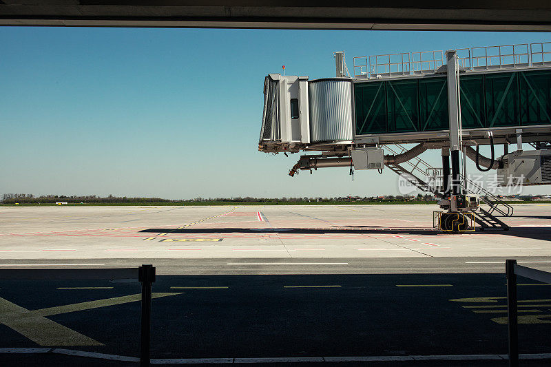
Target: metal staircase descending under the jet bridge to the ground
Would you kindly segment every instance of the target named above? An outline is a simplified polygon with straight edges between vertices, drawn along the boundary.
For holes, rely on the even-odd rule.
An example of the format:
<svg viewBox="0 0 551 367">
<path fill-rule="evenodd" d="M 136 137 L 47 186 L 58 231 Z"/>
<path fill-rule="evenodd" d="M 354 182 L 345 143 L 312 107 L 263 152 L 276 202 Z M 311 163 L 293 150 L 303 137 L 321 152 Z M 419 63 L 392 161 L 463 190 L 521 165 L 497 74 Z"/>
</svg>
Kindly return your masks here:
<svg viewBox="0 0 551 367">
<path fill-rule="evenodd" d="M 397 149 L 393 149 L 393 147 L 388 147 L 388 145 L 386 145 L 385 149 L 391 151 L 395 155 L 401 154 L 407 150 L 402 145 L 396 146 Z M 414 185 L 418 189 L 424 192 L 433 193 L 439 199 L 444 198 L 444 194 L 442 194 L 442 187 L 441 185 L 438 185 L 437 182 L 438 178 L 441 178 L 441 169 L 432 167 L 428 164 L 428 162 L 422 160 L 419 157 L 415 157 L 411 160 L 408 160 L 407 162 L 404 162 L 404 165 L 406 165 L 408 169 L 402 167 L 402 165 L 399 165 L 397 163 L 388 164 L 386 165 L 386 167 L 410 182 L 410 184 Z M 440 172 L 439 175 L 437 174 L 438 171 Z M 425 182 L 418 177 L 421 175 L 426 176 L 428 180 L 426 180 Z M 497 211 L 503 216 L 512 216 L 513 208 L 506 202 L 503 202 L 503 200 L 497 198 L 497 196 L 493 195 L 490 191 L 478 185 L 476 182 L 472 182 L 472 180 L 468 179 L 467 182 L 468 185 L 471 185 L 471 187 L 474 188 L 472 189 L 472 191 L 468 190 L 468 192 L 478 195 L 482 193 L 483 195 L 480 195 L 481 200 L 483 200 L 487 205 L 490 206 L 490 209 L 488 211 L 479 207 L 478 211 L 473 212 L 475 214 L 475 222 L 479 224 L 482 230 L 486 228 L 494 228 L 507 231 L 510 227 L 498 218 L 496 218 L 492 213 L 494 211 Z M 502 207 L 498 207 L 499 205 L 501 205 Z"/>
</svg>

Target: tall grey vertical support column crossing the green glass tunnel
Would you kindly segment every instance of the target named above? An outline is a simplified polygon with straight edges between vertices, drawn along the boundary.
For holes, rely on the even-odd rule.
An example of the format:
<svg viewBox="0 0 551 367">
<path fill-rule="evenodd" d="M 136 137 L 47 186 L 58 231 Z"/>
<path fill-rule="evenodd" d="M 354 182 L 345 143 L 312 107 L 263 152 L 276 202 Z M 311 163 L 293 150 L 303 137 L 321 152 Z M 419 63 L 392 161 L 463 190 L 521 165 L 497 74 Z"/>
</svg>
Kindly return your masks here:
<svg viewBox="0 0 551 367">
<path fill-rule="evenodd" d="M 448 111 L 450 117 L 450 154 L 452 158 L 452 192 L 461 193 L 459 151 L 461 151 L 461 103 L 459 101 L 459 65 L 455 50 L 446 51 L 448 59 Z"/>
</svg>

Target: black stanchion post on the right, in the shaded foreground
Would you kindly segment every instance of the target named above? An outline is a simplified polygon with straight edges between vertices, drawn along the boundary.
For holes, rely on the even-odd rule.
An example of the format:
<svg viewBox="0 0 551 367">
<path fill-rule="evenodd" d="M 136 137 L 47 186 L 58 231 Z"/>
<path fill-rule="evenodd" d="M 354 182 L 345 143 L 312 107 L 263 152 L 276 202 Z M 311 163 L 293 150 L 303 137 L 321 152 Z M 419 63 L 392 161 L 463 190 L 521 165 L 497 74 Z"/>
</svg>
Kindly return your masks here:
<svg viewBox="0 0 551 367">
<path fill-rule="evenodd" d="M 517 317 L 517 275 L 514 273 L 517 260 L 505 261 L 507 275 L 507 316 L 509 326 L 509 366 L 519 366 L 519 330 Z"/>
</svg>

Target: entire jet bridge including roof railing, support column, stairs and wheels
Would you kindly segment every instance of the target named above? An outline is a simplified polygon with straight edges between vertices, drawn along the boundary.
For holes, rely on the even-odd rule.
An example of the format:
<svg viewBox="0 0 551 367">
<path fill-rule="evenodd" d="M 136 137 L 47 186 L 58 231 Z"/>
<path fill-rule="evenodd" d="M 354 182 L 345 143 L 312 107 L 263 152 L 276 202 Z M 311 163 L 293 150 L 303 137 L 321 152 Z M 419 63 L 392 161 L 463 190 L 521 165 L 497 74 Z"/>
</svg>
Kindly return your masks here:
<svg viewBox="0 0 551 367">
<path fill-rule="evenodd" d="M 258 149 L 319 152 L 300 156 L 290 176 L 391 169 L 440 199 L 434 227 L 454 233 L 475 223 L 507 230 L 497 216 L 513 213 L 468 179 L 466 158 L 480 171 L 497 169 L 501 186 L 551 184 L 551 43 L 360 56 L 353 76 L 344 52 L 335 52 L 335 64 L 334 78 L 265 78 Z M 403 147 L 410 143 L 417 145 Z M 496 144 L 503 156 L 495 156 Z M 480 145 L 490 145 L 490 158 Z M 427 149 L 441 149 L 442 167 L 419 158 Z"/>
</svg>

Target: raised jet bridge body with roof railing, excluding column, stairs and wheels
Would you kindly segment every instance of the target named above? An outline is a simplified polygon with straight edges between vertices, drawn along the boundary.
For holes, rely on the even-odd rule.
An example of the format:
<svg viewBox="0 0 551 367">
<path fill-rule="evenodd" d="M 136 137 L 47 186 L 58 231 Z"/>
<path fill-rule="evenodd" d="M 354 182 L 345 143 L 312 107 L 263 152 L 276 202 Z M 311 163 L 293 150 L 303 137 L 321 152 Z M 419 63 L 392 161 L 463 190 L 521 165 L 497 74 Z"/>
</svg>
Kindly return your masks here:
<svg viewBox="0 0 551 367">
<path fill-rule="evenodd" d="M 548 147 L 551 43 L 456 52 L 460 55 L 459 120 L 465 156 L 484 168 L 506 169 L 507 157 L 490 160 L 478 156 L 471 146 L 517 143 L 517 151 L 522 150 L 522 143 Z M 396 159 L 392 154 L 380 158 L 383 154 L 375 149 L 395 144 L 419 144 L 399 157 L 398 163 L 426 149 L 448 149 L 450 101 L 442 55 L 438 51 L 362 56 L 354 58 L 355 75 L 349 77 L 309 80 L 308 76 L 269 74 L 264 81 L 259 150 L 321 151 L 318 156 L 303 156 L 293 167 L 296 171 L 343 166 L 382 169 Z M 337 75 L 344 74 L 343 64 L 337 58 Z M 368 158 L 360 154 L 362 149 L 368 149 Z M 537 154 L 543 171 L 540 167 L 537 179 L 525 180 L 525 185 L 551 183 L 551 151 L 547 150 Z"/>
</svg>

